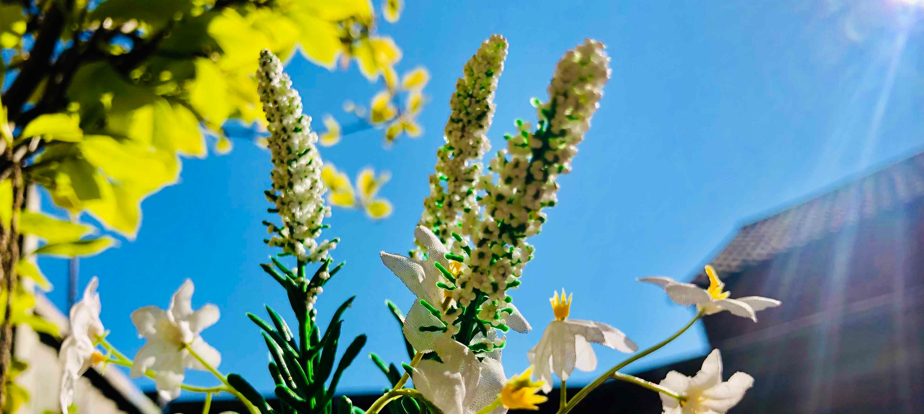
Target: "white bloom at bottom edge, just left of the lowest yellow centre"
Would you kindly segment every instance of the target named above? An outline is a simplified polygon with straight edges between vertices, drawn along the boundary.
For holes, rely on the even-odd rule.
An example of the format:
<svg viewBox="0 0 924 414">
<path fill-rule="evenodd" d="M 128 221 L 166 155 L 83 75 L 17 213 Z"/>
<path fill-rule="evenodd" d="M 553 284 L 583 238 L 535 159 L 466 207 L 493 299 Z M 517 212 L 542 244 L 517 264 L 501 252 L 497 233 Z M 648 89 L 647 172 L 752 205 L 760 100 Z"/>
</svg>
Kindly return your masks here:
<svg viewBox="0 0 924 414">
<path fill-rule="evenodd" d="M 436 338 L 433 346 L 443 362 L 421 360 L 411 378 L 420 394 L 427 397 L 444 414 L 473 414 L 487 407 L 504 388 L 506 378 L 495 349 L 479 361 L 465 345 L 446 335 Z M 492 414 L 503 414 L 495 408 Z"/>
</svg>

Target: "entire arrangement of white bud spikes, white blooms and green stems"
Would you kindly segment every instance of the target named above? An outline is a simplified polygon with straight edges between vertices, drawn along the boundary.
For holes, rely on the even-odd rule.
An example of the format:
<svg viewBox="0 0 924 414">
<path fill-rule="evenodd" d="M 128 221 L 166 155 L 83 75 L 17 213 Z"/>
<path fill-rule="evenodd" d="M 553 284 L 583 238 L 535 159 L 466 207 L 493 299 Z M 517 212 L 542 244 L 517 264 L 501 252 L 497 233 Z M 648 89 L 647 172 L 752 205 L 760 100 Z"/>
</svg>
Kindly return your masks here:
<svg viewBox="0 0 924 414">
<path fill-rule="evenodd" d="M 554 377 L 561 393 L 557 414 L 566 414 L 604 382 L 614 379 L 637 384 L 661 397 L 663 412 L 725 413 L 753 385 L 747 373 L 736 372 L 723 381 L 718 349 L 702 369 L 688 377 L 671 371 L 653 384 L 620 370 L 673 341 L 699 319 L 722 311 L 757 321 L 756 312 L 780 305 L 771 298 L 730 298 L 719 275 L 706 266 L 710 286 L 702 288 L 668 277 L 638 279 L 664 289 L 675 303 L 695 306 L 695 316 L 674 335 L 638 350 L 635 342 L 613 326 L 570 319 L 573 294 L 563 289 L 550 299 L 552 321 L 539 343 L 525 356 L 529 368 L 507 377 L 501 362 L 512 330 L 532 330 L 510 293 L 521 285 L 526 264 L 536 250 L 527 238 L 545 225 L 545 210 L 558 203 L 558 177 L 571 172 L 572 159 L 590 128 L 590 118 L 610 78 L 610 58 L 602 43 L 587 40 L 567 51 L 558 62 L 548 87 L 548 99 L 534 99 L 535 125 L 517 120 L 517 132 L 505 135 L 506 146 L 485 164 L 491 149 L 487 137 L 494 114 L 494 91 L 504 71 L 507 42 L 492 35 L 481 43 L 456 80 L 449 99 L 450 115 L 444 145 L 436 150 L 429 177 L 430 194 L 413 229 L 414 244 L 407 255 L 380 252 L 383 264 L 407 286 L 414 300 L 407 313 L 386 300 L 401 326 L 409 363 L 387 364 L 370 357 L 383 371 L 388 387 L 368 408 L 354 406 L 336 394 L 343 372 L 359 356 L 366 336 L 354 338 L 337 359 L 342 316 L 354 298 L 331 315 L 325 328 L 317 321 L 319 295 L 344 263 L 331 256 L 337 237 L 319 241 L 331 214 L 325 186 L 324 163 L 311 118 L 302 113 L 301 98 L 273 53 L 264 50 L 257 72 L 259 94 L 266 115 L 272 169 L 268 213 L 264 221 L 267 246 L 279 252 L 261 269 L 286 292 L 295 323 L 266 306 L 268 320 L 248 313 L 261 331 L 271 356 L 267 365 L 278 403 L 268 402 L 242 376 L 218 371 L 220 352 L 205 342 L 202 332 L 218 321 L 219 310 L 191 307 L 193 283 L 187 280 L 171 298 L 166 311 L 140 308 L 131 320 L 147 342 L 132 359 L 106 340 L 100 319 L 98 281 L 91 280 L 82 300 L 70 310 L 70 335 L 60 358 L 64 367 L 61 408 L 72 406 L 79 377 L 91 367 L 127 367 L 132 377 L 150 377 L 164 400 L 183 391 L 205 394 L 205 411 L 212 397 L 237 397 L 250 414 L 503 414 L 508 409 L 538 409 L 552 404 L 541 393 L 552 391 Z M 328 180 L 329 181 L 329 180 Z M 325 195 L 327 196 L 325 199 Z M 408 235 L 409 236 L 409 235 Z M 291 261 L 291 262 L 286 262 Z M 571 373 L 595 371 L 591 343 L 631 354 L 573 396 L 565 395 Z M 518 356 L 517 358 L 523 358 Z M 185 384 L 187 369 L 209 371 L 213 386 Z"/>
</svg>

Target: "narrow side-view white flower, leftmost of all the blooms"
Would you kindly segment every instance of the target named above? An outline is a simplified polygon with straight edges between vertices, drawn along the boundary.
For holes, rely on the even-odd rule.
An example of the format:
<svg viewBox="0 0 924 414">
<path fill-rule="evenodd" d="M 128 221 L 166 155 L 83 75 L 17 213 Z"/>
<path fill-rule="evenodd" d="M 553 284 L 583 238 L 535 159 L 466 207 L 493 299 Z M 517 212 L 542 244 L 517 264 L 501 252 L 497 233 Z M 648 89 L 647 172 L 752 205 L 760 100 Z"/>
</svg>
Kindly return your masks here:
<svg viewBox="0 0 924 414">
<path fill-rule="evenodd" d="M 91 366 L 103 362 L 105 357 L 96 350 L 96 341 L 103 336 L 105 329 L 100 321 L 102 304 L 100 294 L 96 293 L 99 280 L 94 276 L 83 291 L 83 298 L 70 308 L 70 335 L 61 343 L 58 356 L 63 368 L 61 374 L 61 392 L 59 402 L 61 412 L 67 414 L 67 408 L 74 402 L 77 380 Z"/>
</svg>

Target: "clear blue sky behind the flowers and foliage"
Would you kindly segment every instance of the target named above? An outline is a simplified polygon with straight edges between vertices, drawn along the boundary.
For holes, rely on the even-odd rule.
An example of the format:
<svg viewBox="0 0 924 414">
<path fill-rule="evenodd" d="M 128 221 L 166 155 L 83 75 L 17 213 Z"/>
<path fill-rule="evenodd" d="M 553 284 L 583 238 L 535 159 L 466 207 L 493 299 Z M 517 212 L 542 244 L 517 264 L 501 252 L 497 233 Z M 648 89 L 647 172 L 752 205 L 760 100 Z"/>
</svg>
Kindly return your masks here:
<svg viewBox="0 0 924 414">
<path fill-rule="evenodd" d="M 560 179 L 560 203 L 530 239 L 536 259 L 514 296 L 535 330 L 510 335 L 508 376 L 527 367 L 527 350 L 552 319 L 553 289 L 574 291 L 573 318 L 611 323 L 648 347 L 691 312 L 637 277 L 687 279 L 743 223 L 924 144 L 921 14 L 896 0 L 408 3 L 401 21 L 382 31 L 404 48 L 400 71 L 425 65 L 432 73 L 432 101 L 420 118 L 425 134 L 385 150 L 381 132 L 370 131 L 322 150 L 353 177 L 366 165 L 393 177 L 382 190 L 395 203 L 392 217 L 373 223 L 334 209 L 325 231 L 343 237 L 334 256 L 347 265 L 325 287 L 319 319 L 326 324 L 340 302 L 358 295 L 343 337 L 369 335 L 364 355 L 407 361 L 383 301 L 407 310 L 412 297 L 378 252 L 411 247 L 446 103 L 462 65 L 492 33 L 510 43 L 490 131 L 494 148 L 515 130 L 515 118 L 534 117 L 528 100 L 544 99 L 566 50 L 591 37 L 613 57 L 613 78 L 574 172 Z M 326 112 L 346 117 L 339 109 L 345 99 L 366 101 L 375 92 L 353 67 L 331 73 L 298 57 L 287 69 L 315 126 Z M 103 323 L 117 347 L 133 354 L 143 344 L 129 312 L 166 307 L 191 277 L 194 305 L 211 302 L 222 311 L 204 333 L 222 351 L 221 370 L 271 390 L 261 335 L 244 316 L 262 313 L 263 303 L 287 309 L 282 289 L 258 267 L 273 252 L 261 242 L 260 222 L 272 219 L 261 195 L 268 168 L 268 152 L 244 141 L 230 154 L 188 160 L 181 183 L 144 202 L 137 240 L 80 262 L 81 286 L 91 275 L 101 279 Z M 64 306 L 66 263 L 42 265 L 56 286 L 50 298 Z M 707 351 L 698 327 L 631 369 Z M 624 358 L 602 347 L 597 354 L 600 369 Z M 576 372 L 572 384 L 592 375 Z M 198 373 L 188 380 L 213 384 Z M 386 381 L 363 356 L 341 384 L 344 392 L 376 392 Z"/>
</svg>

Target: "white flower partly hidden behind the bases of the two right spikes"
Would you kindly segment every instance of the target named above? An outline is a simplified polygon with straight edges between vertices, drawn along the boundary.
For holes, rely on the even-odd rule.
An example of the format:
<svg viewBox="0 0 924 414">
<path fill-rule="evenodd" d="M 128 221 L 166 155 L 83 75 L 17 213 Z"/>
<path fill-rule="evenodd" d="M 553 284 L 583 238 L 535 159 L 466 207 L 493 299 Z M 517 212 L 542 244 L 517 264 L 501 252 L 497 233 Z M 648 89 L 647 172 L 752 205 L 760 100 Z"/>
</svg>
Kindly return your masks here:
<svg viewBox="0 0 924 414">
<path fill-rule="evenodd" d="M 418 226 L 414 229 L 414 236 L 417 237 L 421 245 L 427 247 L 426 261 L 416 261 L 400 254 L 386 253 L 384 251 L 380 252 L 379 256 L 385 266 L 404 282 L 411 293 L 418 299 L 424 299 L 434 308 L 439 309 L 444 300 L 448 298 L 446 293 L 449 292 L 436 286 L 438 282 L 446 283 L 447 281 L 443 273 L 436 268 L 435 263 L 440 263 L 444 269 L 454 273 L 458 272 L 461 263 L 451 262 L 446 259 L 445 256 L 448 250 L 446 250 L 439 237 L 436 237 L 427 227 Z M 513 304 L 506 304 L 506 306 L 513 309 L 512 314 L 505 316 L 507 326 L 519 333 L 528 333 L 532 330 L 532 327 L 529 326 L 529 323 Z M 405 317 L 404 334 L 407 337 L 407 342 L 417 351 L 432 351 L 433 340 L 442 333 L 420 332 L 419 328 L 421 326 L 443 326 L 443 323 L 439 318 L 433 316 L 430 311 L 427 311 L 419 300 L 415 300 L 410 311 L 407 312 L 407 317 Z"/>
</svg>

